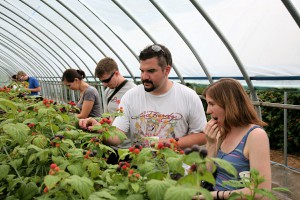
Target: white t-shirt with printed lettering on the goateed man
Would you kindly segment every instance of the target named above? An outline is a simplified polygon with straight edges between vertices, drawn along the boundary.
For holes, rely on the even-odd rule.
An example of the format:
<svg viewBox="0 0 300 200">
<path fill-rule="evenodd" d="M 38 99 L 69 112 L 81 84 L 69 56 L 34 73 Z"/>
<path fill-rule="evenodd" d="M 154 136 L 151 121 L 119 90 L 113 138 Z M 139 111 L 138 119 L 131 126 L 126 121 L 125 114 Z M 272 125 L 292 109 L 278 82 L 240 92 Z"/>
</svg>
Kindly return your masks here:
<svg viewBox="0 0 300 200">
<path fill-rule="evenodd" d="M 206 115 L 196 92 L 173 82 L 165 94 L 152 95 L 139 85 L 129 90 L 119 107 L 124 116 L 117 117 L 113 125 L 127 133 L 129 141 L 120 148 L 128 147 L 130 139 L 141 141 L 142 137 L 180 138 L 189 133 L 202 132 Z M 130 133 L 130 134 L 129 134 Z"/>
</svg>

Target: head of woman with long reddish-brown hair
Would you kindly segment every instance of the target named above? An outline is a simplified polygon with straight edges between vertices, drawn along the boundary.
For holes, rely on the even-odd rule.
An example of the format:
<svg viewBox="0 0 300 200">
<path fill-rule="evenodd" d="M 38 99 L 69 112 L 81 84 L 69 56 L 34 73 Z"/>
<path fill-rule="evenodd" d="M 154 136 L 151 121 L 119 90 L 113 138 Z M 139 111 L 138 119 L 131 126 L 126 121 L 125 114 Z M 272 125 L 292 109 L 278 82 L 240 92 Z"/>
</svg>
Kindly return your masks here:
<svg viewBox="0 0 300 200">
<path fill-rule="evenodd" d="M 209 85 L 203 92 L 207 114 L 216 119 L 227 133 L 231 127 L 258 124 L 265 126 L 251 103 L 251 99 L 237 80 L 223 78 Z"/>
</svg>

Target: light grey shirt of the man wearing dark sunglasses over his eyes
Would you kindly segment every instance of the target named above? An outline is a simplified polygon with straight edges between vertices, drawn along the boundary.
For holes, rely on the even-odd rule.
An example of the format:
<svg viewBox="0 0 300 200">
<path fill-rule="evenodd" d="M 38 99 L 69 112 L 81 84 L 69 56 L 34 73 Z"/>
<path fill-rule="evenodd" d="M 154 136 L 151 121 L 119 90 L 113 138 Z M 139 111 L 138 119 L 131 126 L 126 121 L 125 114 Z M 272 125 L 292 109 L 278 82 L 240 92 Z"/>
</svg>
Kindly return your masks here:
<svg viewBox="0 0 300 200">
<path fill-rule="evenodd" d="M 117 111 L 117 108 L 120 104 L 122 96 L 131 88 L 135 87 L 136 85 L 132 81 L 127 81 L 126 84 L 111 98 L 109 102 L 107 102 L 108 97 L 113 94 L 115 89 L 107 88 L 105 90 L 105 100 L 106 105 L 104 112 L 114 113 Z"/>
</svg>

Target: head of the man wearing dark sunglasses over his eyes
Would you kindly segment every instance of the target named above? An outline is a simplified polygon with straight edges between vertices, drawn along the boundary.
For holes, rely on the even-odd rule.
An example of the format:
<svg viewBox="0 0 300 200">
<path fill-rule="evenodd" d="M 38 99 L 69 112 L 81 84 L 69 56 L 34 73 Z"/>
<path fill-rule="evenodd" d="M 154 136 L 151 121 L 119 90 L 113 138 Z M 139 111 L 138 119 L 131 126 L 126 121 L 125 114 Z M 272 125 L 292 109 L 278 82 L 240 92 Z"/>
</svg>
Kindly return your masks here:
<svg viewBox="0 0 300 200">
<path fill-rule="evenodd" d="M 110 57 L 101 59 L 95 69 L 95 76 L 104 86 L 114 89 L 124 80 L 120 74 L 116 61 Z"/>
</svg>

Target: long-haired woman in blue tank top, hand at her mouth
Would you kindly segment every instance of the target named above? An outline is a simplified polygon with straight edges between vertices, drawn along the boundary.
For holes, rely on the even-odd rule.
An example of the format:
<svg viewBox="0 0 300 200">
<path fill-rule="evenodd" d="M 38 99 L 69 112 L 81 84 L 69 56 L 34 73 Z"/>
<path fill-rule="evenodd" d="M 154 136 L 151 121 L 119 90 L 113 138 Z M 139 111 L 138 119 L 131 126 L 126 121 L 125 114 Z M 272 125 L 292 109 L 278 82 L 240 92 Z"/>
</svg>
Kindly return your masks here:
<svg viewBox="0 0 300 200">
<path fill-rule="evenodd" d="M 259 187 L 271 190 L 269 139 L 251 100 L 242 85 L 234 79 L 221 79 L 204 91 L 211 120 L 205 134 L 208 156 L 230 162 L 238 171 L 257 169 L 265 178 Z M 227 199 L 233 192 L 250 194 L 248 188 L 223 186 L 223 181 L 238 180 L 224 169 L 217 167 L 216 185 L 212 195 Z"/>
</svg>

